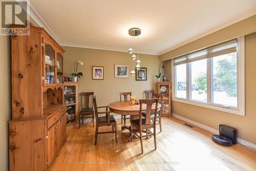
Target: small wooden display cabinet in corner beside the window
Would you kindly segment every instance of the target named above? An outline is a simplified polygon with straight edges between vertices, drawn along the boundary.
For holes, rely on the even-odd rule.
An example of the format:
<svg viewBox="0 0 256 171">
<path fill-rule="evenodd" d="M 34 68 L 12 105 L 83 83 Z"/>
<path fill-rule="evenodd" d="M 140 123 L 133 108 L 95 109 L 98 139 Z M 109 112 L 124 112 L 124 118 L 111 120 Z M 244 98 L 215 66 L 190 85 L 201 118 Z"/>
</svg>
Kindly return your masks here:
<svg viewBox="0 0 256 171">
<path fill-rule="evenodd" d="M 159 94 L 163 94 L 163 104 L 162 104 L 162 116 L 171 117 L 172 108 L 172 83 L 169 81 L 157 82 L 157 91 Z"/>
</svg>

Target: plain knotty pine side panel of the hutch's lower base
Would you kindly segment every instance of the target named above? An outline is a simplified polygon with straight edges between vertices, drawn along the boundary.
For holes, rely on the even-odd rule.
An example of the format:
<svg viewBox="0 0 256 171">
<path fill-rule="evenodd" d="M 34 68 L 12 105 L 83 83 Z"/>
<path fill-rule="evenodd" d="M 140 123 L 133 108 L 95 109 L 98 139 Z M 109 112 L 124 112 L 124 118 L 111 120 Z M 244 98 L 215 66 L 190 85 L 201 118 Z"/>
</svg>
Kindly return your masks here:
<svg viewBox="0 0 256 171">
<path fill-rule="evenodd" d="M 9 122 L 10 170 L 46 170 L 45 147 L 45 119 Z"/>
</svg>

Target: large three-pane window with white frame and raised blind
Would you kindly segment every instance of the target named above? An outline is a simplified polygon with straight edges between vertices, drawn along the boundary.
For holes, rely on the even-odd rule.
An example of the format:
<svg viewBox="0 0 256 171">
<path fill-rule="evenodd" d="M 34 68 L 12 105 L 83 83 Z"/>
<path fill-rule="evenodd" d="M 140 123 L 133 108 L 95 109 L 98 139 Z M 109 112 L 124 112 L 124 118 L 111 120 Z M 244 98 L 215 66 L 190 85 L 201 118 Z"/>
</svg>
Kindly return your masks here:
<svg viewBox="0 0 256 171">
<path fill-rule="evenodd" d="M 244 37 L 173 59 L 173 100 L 244 115 Z"/>
</svg>

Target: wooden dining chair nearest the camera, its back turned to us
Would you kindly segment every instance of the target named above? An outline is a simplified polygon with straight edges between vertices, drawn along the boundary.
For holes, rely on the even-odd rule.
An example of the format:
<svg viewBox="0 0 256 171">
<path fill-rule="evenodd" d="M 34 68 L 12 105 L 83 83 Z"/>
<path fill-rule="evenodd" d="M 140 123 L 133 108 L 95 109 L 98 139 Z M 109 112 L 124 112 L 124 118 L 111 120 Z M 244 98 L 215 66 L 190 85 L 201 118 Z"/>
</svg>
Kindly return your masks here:
<svg viewBox="0 0 256 171">
<path fill-rule="evenodd" d="M 155 116 L 154 119 L 152 120 L 151 115 L 152 115 L 152 105 L 155 103 Z M 142 105 L 146 104 L 146 117 L 142 118 Z M 154 136 L 154 144 L 155 144 L 155 149 L 157 149 L 157 141 L 156 141 L 156 114 L 157 114 L 157 105 L 158 105 L 158 99 L 153 98 L 153 99 L 140 99 L 140 118 L 131 120 L 131 133 L 132 133 L 132 138 L 131 141 L 133 141 L 133 134 L 135 134 L 138 138 L 140 138 L 140 145 L 141 145 L 141 153 L 143 153 L 143 144 L 142 144 L 142 138 L 143 137 L 148 137 L 148 136 Z M 140 135 L 136 133 L 136 131 L 133 129 L 133 126 L 136 127 L 136 129 L 139 130 Z M 151 128 L 154 129 L 154 132 L 151 132 Z M 142 130 L 146 130 L 146 135 L 142 136 Z M 149 133 L 149 134 L 148 134 Z"/>
</svg>

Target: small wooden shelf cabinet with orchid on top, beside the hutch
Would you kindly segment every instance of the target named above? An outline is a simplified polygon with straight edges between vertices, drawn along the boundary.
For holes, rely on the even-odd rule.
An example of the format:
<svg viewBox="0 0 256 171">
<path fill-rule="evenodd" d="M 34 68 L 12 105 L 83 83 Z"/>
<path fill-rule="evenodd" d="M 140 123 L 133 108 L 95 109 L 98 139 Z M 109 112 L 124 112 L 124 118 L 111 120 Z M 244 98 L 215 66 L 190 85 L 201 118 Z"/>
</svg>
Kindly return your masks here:
<svg viewBox="0 0 256 171">
<path fill-rule="evenodd" d="M 67 126 L 78 123 L 78 82 L 64 82 L 64 103 L 67 104 Z"/>
</svg>

